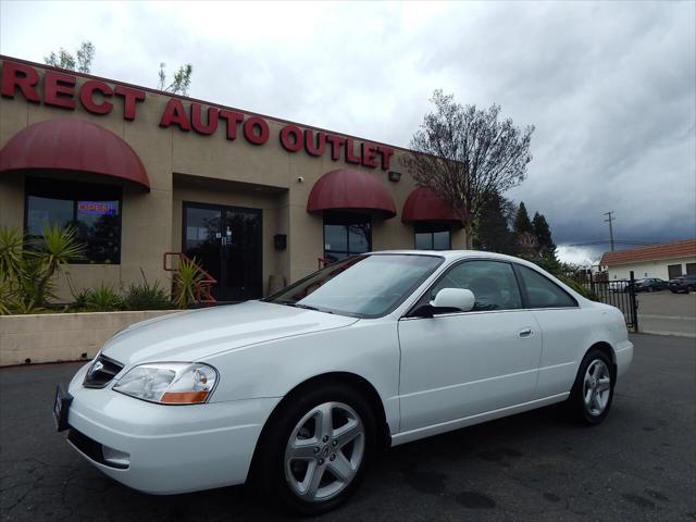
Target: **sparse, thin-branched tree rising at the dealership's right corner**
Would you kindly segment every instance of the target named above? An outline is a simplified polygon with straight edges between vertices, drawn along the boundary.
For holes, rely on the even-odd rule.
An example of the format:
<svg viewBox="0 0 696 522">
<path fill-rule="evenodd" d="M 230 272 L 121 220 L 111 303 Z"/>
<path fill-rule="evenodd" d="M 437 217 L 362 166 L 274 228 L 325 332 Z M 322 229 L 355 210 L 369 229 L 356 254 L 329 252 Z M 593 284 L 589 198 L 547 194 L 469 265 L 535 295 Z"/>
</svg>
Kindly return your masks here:
<svg viewBox="0 0 696 522">
<path fill-rule="evenodd" d="M 522 183 L 532 160 L 533 126 L 515 127 L 500 119 L 500 107 L 461 105 L 452 95 L 435 90 L 435 109 L 423 117 L 402 160 L 415 183 L 431 188 L 457 213 L 473 244 L 475 220 L 485 198 Z"/>
</svg>

